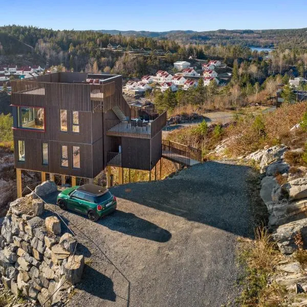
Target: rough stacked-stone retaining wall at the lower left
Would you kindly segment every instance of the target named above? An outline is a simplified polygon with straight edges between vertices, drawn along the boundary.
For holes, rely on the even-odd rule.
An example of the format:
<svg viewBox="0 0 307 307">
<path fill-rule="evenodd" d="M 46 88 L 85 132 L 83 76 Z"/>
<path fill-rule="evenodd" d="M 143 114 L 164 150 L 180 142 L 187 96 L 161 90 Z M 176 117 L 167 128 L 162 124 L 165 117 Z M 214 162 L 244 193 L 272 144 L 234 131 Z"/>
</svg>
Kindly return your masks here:
<svg viewBox="0 0 307 307">
<path fill-rule="evenodd" d="M 12 202 L 0 235 L 0 277 L 5 288 L 35 304 L 63 305 L 84 267 L 83 256 L 73 255 L 76 244 L 70 233 L 61 234 L 59 218 L 46 212 L 40 200 L 28 195 Z"/>
</svg>

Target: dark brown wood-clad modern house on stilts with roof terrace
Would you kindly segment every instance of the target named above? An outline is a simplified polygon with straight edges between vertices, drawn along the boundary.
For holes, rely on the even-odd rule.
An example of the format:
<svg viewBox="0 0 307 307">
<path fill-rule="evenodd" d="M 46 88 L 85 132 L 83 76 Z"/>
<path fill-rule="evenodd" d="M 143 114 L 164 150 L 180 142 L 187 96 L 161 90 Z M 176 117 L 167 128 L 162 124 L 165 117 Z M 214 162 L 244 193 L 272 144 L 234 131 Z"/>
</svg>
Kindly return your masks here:
<svg viewBox="0 0 307 307">
<path fill-rule="evenodd" d="M 42 181 L 71 176 L 74 186 L 107 167 L 109 186 L 111 166 L 150 171 L 162 157 L 166 113 L 150 110 L 141 126 L 127 120 L 144 110 L 126 103 L 120 75 L 58 72 L 11 83 L 17 197 L 22 170 L 41 172 Z"/>
</svg>

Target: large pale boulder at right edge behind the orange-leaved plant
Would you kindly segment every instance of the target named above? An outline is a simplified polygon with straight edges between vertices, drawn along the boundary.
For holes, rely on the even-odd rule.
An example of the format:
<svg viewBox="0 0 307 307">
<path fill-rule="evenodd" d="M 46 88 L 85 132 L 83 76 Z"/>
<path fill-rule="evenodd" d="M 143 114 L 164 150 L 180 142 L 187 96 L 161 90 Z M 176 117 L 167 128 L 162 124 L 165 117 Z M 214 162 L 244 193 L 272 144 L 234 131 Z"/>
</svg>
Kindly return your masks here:
<svg viewBox="0 0 307 307">
<path fill-rule="evenodd" d="M 294 221 L 288 224 L 279 226 L 276 232 L 273 233 L 273 238 L 275 239 L 278 248 L 283 254 L 292 254 L 297 250 L 297 245 L 295 244 L 295 236 L 301 233 L 303 239 L 303 248 L 307 248 L 307 218 L 303 218 L 299 221 Z"/>
</svg>

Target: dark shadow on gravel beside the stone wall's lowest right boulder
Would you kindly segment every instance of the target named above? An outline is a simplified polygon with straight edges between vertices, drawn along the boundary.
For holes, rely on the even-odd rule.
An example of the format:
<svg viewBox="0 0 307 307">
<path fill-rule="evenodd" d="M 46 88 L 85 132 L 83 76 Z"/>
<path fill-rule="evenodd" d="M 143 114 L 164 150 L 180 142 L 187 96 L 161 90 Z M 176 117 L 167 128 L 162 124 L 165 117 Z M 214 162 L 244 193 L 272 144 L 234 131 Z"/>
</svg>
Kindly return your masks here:
<svg viewBox="0 0 307 307">
<path fill-rule="evenodd" d="M 78 284 L 78 289 L 105 300 L 116 301 L 112 279 L 87 265 L 84 267 L 83 279 Z"/>
</svg>

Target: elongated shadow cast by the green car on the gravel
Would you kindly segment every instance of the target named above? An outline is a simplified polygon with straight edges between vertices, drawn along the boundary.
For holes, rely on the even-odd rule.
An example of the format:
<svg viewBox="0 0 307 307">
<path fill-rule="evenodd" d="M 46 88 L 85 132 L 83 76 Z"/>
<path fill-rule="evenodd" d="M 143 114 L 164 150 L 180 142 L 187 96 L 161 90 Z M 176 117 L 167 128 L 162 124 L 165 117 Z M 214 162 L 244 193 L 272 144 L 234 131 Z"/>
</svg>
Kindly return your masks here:
<svg viewBox="0 0 307 307">
<path fill-rule="evenodd" d="M 133 213 L 120 210 L 116 210 L 110 216 L 105 216 L 98 220 L 97 223 L 114 231 L 160 243 L 167 242 L 171 238 L 171 233 L 166 229 L 146 221 Z"/>
</svg>

